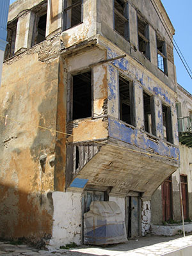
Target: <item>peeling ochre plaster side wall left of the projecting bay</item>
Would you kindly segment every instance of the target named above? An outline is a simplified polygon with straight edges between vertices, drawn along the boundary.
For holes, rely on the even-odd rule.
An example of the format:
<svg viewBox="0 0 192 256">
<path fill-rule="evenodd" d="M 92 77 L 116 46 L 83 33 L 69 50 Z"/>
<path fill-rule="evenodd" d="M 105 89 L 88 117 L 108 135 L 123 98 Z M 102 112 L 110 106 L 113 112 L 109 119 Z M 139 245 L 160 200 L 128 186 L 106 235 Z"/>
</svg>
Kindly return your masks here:
<svg viewBox="0 0 192 256">
<path fill-rule="evenodd" d="M 52 232 L 58 60 L 4 63 L 0 88 L 1 237 L 38 241 Z M 40 157 L 45 163 L 40 164 Z"/>
</svg>

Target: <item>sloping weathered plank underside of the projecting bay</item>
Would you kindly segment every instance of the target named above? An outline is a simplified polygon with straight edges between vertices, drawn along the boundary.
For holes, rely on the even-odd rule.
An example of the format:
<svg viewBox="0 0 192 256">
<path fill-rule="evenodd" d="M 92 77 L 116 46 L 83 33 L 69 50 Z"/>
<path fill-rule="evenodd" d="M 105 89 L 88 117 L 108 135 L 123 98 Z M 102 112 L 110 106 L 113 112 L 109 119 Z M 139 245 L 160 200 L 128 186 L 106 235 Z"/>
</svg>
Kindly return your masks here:
<svg viewBox="0 0 192 256">
<path fill-rule="evenodd" d="M 127 148 L 116 146 L 112 142 L 102 145 L 97 154 L 79 170 L 74 180 L 86 180 L 83 189 L 102 186 L 111 188 L 114 194 L 125 196 L 136 192 L 150 198 L 164 179 L 178 168 L 177 160 L 149 156 L 142 151 L 134 152 L 129 150 L 132 149 L 128 148 L 129 145 Z M 72 189 L 74 180 L 68 189 Z"/>
</svg>

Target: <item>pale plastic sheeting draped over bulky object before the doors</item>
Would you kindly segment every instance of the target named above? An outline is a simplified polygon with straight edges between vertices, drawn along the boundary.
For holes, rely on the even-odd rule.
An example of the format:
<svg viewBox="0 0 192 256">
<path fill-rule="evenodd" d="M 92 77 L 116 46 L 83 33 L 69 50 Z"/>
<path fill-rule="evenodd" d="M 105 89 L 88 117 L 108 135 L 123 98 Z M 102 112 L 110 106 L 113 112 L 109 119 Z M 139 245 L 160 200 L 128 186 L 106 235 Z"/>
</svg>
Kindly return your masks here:
<svg viewBox="0 0 192 256">
<path fill-rule="evenodd" d="M 84 213 L 85 244 L 115 244 L 127 241 L 125 220 L 115 202 L 95 201 Z"/>
</svg>

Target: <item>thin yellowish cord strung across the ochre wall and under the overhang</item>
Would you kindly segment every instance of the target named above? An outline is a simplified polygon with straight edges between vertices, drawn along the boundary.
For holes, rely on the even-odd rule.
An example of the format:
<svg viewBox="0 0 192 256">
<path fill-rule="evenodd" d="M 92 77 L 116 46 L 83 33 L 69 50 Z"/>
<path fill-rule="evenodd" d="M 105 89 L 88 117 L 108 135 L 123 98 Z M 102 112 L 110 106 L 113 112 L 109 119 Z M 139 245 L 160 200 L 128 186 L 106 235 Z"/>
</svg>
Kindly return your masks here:
<svg viewBox="0 0 192 256">
<path fill-rule="evenodd" d="M 4 118 L 5 120 L 8 119 L 8 120 L 11 120 L 11 121 L 14 121 L 14 122 L 17 122 L 17 123 L 28 124 L 28 122 L 23 122 L 23 121 L 20 121 L 20 120 L 15 119 L 15 118 L 10 118 L 10 117 L 8 117 L 8 116 L 0 115 L 0 117 Z M 68 133 L 66 133 L 66 132 L 61 132 L 61 131 L 57 131 L 57 130 L 54 130 L 54 129 L 49 129 L 49 128 L 47 128 L 47 127 L 43 127 L 43 126 L 41 126 L 41 125 L 34 125 L 34 126 L 40 128 L 40 129 L 45 129 L 45 130 L 48 130 L 48 131 L 51 131 L 51 132 L 56 132 L 56 133 L 64 134 L 64 135 L 67 135 L 67 136 L 70 136 L 70 137 L 73 137 L 73 136 L 74 136 L 74 135 L 68 134 Z M 140 154 L 145 154 L 145 155 L 147 155 L 147 156 L 164 157 L 164 158 L 166 158 L 166 159 L 172 159 L 172 160 L 176 160 L 176 161 L 179 160 L 178 157 L 177 157 L 177 158 L 174 158 L 174 157 L 168 157 L 168 156 L 161 156 L 161 155 L 157 155 L 157 154 L 151 154 L 151 153 L 148 153 L 148 152 L 141 152 L 141 151 L 139 151 L 139 150 L 134 150 L 134 149 L 132 149 L 132 148 L 125 148 L 125 147 L 120 147 L 120 146 L 118 146 L 118 145 L 108 144 L 108 143 L 105 143 L 105 142 L 102 142 L 102 141 L 97 141 L 97 140 L 91 140 L 91 141 L 93 141 L 93 142 L 95 142 L 95 143 L 98 143 L 98 144 L 107 145 L 107 146 L 113 147 L 113 148 L 114 148 L 114 147 L 115 147 L 115 148 L 121 148 L 121 149 L 123 149 L 123 150 L 128 150 L 128 151 L 131 151 L 131 152 L 136 152 L 136 153 L 140 153 Z"/>
</svg>

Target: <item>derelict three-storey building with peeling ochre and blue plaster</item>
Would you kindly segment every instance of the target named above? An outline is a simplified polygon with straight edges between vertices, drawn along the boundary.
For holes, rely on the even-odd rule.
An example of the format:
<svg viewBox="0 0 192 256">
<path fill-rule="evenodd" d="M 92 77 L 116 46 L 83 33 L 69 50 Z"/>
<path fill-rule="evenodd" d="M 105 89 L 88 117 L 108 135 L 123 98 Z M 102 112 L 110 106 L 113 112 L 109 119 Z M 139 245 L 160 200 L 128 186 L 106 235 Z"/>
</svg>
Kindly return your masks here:
<svg viewBox="0 0 192 256">
<path fill-rule="evenodd" d="M 94 200 L 118 204 L 127 237 L 145 235 L 166 218 L 161 184 L 188 148 L 177 114 L 191 98 L 161 1 L 17 0 L 7 30 L 0 237 L 83 243 Z"/>
</svg>

